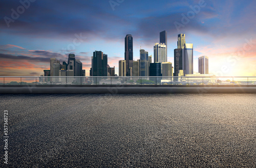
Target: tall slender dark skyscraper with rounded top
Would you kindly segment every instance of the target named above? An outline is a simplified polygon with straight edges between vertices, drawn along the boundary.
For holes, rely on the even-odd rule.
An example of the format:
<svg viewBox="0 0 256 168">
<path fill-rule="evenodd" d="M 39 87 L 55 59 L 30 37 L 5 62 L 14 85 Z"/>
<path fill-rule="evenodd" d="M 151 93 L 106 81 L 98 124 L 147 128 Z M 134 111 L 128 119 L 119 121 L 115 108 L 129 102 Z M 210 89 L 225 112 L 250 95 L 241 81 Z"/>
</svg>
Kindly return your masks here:
<svg viewBox="0 0 256 168">
<path fill-rule="evenodd" d="M 133 68 L 133 37 L 132 35 L 126 35 L 124 39 L 125 52 L 124 60 L 126 61 L 126 76 L 131 76 L 130 69 Z"/>
</svg>

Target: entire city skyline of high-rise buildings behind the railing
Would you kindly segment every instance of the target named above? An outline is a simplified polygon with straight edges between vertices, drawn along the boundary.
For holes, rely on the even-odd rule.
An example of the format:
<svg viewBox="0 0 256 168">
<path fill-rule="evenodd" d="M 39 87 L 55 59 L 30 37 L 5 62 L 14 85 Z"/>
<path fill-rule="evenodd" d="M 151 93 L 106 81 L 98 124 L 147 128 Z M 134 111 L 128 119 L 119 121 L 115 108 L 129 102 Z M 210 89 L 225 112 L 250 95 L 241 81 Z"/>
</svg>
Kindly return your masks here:
<svg viewBox="0 0 256 168">
<path fill-rule="evenodd" d="M 208 76 L 208 57 L 198 59 L 198 71 L 193 69 L 193 44 L 186 43 L 185 34 L 178 35 L 177 48 L 174 49 L 174 66 L 167 61 L 167 33 L 160 32 L 160 41 L 154 45 L 154 63 L 152 55 L 140 49 L 140 59 L 133 59 L 133 37 L 126 35 L 124 60 L 119 61 L 119 76 Z M 58 60 L 50 60 L 50 70 L 44 70 L 45 76 L 85 76 L 82 63 L 69 54 L 68 63 L 60 64 Z M 115 67 L 108 65 L 108 55 L 102 51 L 94 51 L 90 76 L 117 76 Z"/>
</svg>

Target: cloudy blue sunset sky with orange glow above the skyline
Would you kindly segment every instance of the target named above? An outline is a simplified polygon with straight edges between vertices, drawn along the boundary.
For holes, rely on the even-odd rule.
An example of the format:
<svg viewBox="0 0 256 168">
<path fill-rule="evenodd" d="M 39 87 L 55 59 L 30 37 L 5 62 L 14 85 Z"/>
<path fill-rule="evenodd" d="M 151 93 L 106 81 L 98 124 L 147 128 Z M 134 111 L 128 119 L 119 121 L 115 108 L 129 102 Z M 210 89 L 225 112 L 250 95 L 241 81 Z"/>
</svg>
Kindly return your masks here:
<svg viewBox="0 0 256 168">
<path fill-rule="evenodd" d="M 167 32 L 167 61 L 174 66 L 178 34 L 209 58 L 209 73 L 256 76 L 256 1 L 238 0 L 21 0 L 0 2 L 0 76 L 40 76 L 50 58 L 74 53 L 89 76 L 95 50 L 108 64 L 124 60 L 124 38 L 133 36 L 134 60 L 145 49 L 154 60 L 159 33 Z"/>
</svg>

